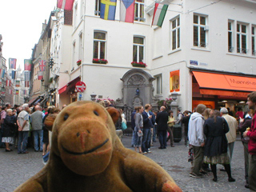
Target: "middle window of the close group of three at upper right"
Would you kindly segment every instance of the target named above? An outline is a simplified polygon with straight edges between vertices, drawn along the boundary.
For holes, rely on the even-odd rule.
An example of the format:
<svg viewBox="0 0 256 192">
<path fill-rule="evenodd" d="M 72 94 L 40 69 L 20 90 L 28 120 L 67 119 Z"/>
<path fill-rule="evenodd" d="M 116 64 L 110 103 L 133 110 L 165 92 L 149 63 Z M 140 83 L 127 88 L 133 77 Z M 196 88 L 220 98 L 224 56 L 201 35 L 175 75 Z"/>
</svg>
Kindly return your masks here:
<svg viewBox="0 0 256 192">
<path fill-rule="evenodd" d="M 247 54 L 247 26 L 237 23 L 237 53 Z"/>
</svg>

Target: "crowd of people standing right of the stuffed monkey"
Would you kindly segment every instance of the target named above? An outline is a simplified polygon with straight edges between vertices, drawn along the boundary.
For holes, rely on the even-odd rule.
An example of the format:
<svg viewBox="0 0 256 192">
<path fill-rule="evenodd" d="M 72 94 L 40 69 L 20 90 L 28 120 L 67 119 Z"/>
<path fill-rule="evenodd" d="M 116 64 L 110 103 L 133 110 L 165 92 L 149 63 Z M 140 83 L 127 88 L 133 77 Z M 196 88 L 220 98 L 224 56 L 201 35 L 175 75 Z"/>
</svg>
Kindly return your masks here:
<svg viewBox="0 0 256 192">
<path fill-rule="evenodd" d="M 134 107 L 131 114 L 131 145 L 138 153 L 149 154 L 150 146 L 158 137 L 158 149 L 166 149 L 169 140 L 170 147 L 174 147 L 174 125 L 178 124 L 183 127 L 185 146 L 189 147 L 190 177 L 202 178 L 211 171 L 213 181 L 218 182 L 217 164 L 221 164 L 223 168 L 220 170 L 226 171 L 228 182 L 235 182 L 231 161 L 239 131 L 244 146 L 245 187 L 256 191 L 256 92 L 248 95 L 247 104 L 249 111 L 243 113 L 239 109 L 236 114 L 226 107 L 214 110 L 199 104 L 193 112 L 185 110 L 182 114 L 178 110 L 176 120 L 174 111 L 168 113 L 166 106 L 161 106 L 160 111 L 153 111 L 150 104 L 146 104 L 145 108 Z"/>
</svg>

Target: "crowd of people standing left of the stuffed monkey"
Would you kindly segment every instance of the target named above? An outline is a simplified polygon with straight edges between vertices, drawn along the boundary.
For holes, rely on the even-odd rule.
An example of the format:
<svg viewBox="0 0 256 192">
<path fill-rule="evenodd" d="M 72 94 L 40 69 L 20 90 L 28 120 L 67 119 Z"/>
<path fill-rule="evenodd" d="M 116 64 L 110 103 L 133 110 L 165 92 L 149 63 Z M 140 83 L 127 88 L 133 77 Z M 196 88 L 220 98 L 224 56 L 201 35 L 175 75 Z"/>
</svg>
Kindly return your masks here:
<svg viewBox="0 0 256 192">
<path fill-rule="evenodd" d="M 34 106 L 25 103 L 13 108 L 6 104 L 1 108 L 0 147 L 5 148 L 6 152 L 16 148 L 18 154 L 28 154 L 29 145 L 45 156 L 50 151 L 50 132 L 44 126 L 44 121 L 49 114 L 58 114 L 59 111 L 55 106 L 42 108 L 40 103 Z"/>
</svg>

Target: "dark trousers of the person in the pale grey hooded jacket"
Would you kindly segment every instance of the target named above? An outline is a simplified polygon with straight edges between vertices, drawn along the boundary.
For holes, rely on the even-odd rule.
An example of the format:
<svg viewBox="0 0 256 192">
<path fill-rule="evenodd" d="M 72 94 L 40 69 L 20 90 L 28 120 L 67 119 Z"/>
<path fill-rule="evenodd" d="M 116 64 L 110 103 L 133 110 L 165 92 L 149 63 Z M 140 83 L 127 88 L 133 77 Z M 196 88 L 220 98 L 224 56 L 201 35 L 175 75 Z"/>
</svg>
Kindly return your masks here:
<svg viewBox="0 0 256 192">
<path fill-rule="evenodd" d="M 193 146 L 194 151 L 194 162 L 193 162 L 193 170 L 194 174 L 199 175 L 200 170 L 202 168 L 202 159 L 203 159 L 203 146 Z"/>
</svg>

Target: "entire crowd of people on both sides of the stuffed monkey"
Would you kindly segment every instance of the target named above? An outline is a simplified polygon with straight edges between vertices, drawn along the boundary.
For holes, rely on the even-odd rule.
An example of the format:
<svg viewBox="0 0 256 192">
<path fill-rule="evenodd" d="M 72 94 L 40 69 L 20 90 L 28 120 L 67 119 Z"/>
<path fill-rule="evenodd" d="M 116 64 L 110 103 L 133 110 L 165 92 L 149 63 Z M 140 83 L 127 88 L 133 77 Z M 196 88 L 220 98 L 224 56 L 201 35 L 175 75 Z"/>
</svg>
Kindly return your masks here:
<svg viewBox="0 0 256 192">
<path fill-rule="evenodd" d="M 104 107 L 112 106 L 108 100 L 100 104 Z M 146 104 L 145 108 L 134 107 L 131 114 L 131 145 L 140 154 L 150 154 L 150 147 L 157 142 L 156 138 L 160 144 L 158 149 L 166 149 L 169 140 L 170 147 L 174 147 L 174 126 L 182 126 L 192 165 L 190 177 L 202 178 L 212 171 L 213 181 L 218 182 L 217 164 L 221 164 L 228 182 L 235 182 L 231 174 L 231 161 L 239 131 L 244 146 L 246 188 L 256 191 L 256 92 L 248 94 L 247 105 L 250 108 L 247 113 L 238 110 L 234 115 L 225 107 L 214 110 L 199 104 L 193 112 L 185 110 L 182 113 L 178 110 L 177 119 L 174 118 L 174 111 L 167 112 L 166 106 L 161 106 L 159 111 L 153 111 L 150 104 Z M 34 151 L 40 151 L 43 157 L 49 157 L 51 133 L 44 126 L 44 121 L 49 114 L 59 112 L 54 106 L 42 109 L 40 103 L 31 107 L 25 103 L 13 108 L 6 104 L 0 115 L 0 147 L 11 152 L 11 146 L 15 146 L 18 154 L 28 154 L 29 142 Z M 118 112 L 120 118 L 115 126 L 118 137 L 122 138 L 122 131 L 127 127 L 126 117 L 122 109 L 118 109 Z"/>
</svg>

